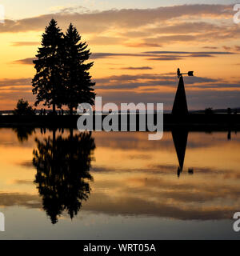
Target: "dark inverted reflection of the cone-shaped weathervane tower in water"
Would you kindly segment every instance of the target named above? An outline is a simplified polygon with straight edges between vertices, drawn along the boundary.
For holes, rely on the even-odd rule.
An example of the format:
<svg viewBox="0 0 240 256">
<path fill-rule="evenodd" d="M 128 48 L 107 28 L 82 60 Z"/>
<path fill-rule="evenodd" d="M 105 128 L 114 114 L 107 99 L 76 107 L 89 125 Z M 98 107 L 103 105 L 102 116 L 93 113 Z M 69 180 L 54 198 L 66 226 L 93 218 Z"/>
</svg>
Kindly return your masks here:
<svg viewBox="0 0 240 256">
<path fill-rule="evenodd" d="M 189 131 L 186 129 L 175 129 L 172 130 L 172 136 L 174 141 L 175 150 L 178 156 L 178 177 L 182 173 L 184 159 L 186 154 L 186 145 L 187 145 L 187 138 L 188 138 Z M 193 169 L 188 170 L 189 174 L 194 174 Z"/>
</svg>

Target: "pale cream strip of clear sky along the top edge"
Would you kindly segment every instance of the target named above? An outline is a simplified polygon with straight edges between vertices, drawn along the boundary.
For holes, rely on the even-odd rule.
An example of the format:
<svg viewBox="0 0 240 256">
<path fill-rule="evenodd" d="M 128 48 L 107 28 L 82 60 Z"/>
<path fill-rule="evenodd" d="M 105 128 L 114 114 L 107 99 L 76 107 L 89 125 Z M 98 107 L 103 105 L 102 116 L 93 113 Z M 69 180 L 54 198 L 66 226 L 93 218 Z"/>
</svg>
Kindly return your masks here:
<svg viewBox="0 0 240 256">
<path fill-rule="evenodd" d="M 159 6 L 174 6 L 184 4 L 233 4 L 238 0 L 2 0 L 0 4 L 5 6 L 6 18 L 29 18 L 41 14 L 51 14 L 57 10 L 70 7 L 84 7 L 88 10 L 110 10 L 110 9 L 145 9 L 158 8 Z"/>
</svg>

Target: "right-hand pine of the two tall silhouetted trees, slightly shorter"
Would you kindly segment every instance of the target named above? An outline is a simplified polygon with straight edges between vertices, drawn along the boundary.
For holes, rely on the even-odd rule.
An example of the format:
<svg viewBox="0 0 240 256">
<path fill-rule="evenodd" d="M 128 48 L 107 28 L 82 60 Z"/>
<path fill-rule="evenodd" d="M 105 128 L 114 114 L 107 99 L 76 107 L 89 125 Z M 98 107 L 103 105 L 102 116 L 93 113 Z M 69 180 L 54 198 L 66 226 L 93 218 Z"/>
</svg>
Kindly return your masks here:
<svg viewBox="0 0 240 256">
<path fill-rule="evenodd" d="M 91 76 L 88 70 L 94 65 L 94 62 L 84 63 L 90 58 L 90 50 L 87 50 L 86 42 L 81 42 L 81 36 L 78 30 L 70 24 L 65 41 L 64 58 L 64 83 L 66 93 L 64 102 L 70 109 L 78 107 L 78 103 L 86 102 L 94 104 L 94 82 L 91 82 Z"/>
</svg>

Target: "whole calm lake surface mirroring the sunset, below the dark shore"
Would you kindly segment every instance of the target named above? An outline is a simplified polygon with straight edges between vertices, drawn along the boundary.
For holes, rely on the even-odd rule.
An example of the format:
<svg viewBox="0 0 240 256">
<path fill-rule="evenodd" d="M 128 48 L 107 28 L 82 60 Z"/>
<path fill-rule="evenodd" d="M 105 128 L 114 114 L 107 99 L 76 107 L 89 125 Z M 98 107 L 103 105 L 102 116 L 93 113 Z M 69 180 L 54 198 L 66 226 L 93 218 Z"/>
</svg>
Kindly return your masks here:
<svg viewBox="0 0 240 256">
<path fill-rule="evenodd" d="M 239 153 L 234 132 L 2 128 L 0 239 L 239 239 Z"/>
</svg>

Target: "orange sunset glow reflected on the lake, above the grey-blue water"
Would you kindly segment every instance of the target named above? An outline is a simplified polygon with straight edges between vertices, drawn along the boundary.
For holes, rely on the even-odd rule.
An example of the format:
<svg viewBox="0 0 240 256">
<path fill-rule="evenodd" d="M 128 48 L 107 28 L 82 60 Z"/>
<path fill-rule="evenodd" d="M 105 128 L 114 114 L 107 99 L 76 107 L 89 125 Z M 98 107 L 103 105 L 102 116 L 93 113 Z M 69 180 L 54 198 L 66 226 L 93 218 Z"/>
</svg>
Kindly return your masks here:
<svg viewBox="0 0 240 256">
<path fill-rule="evenodd" d="M 42 197 L 34 183 L 34 138 L 52 138 L 52 131 L 41 134 L 36 129 L 22 142 L 17 134 L 16 130 L 1 129 L 0 206 L 42 209 Z M 179 177 L 172 134 L 165 132 L 158 142 L 148 141 L 147 135 L 92 134 L 96 146 L 90 168 L 93 180 L 87 181 L 90 195 L 78 214 L 90 210 L 110 215 L 214 220 L 231 219 L 240 210 L 238 134 L 232 133 L 227 140 L 226 132 L 189 133 Z M 69 138 L 70 131 L 57 131 L 55 136 Z M 180 146 L 180 150 L 184 149 Z"/>
</svg>

